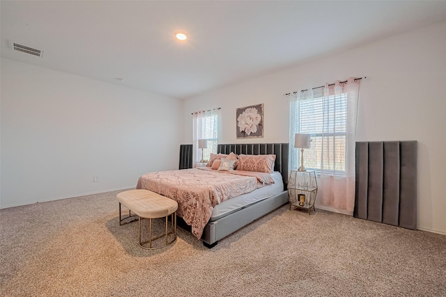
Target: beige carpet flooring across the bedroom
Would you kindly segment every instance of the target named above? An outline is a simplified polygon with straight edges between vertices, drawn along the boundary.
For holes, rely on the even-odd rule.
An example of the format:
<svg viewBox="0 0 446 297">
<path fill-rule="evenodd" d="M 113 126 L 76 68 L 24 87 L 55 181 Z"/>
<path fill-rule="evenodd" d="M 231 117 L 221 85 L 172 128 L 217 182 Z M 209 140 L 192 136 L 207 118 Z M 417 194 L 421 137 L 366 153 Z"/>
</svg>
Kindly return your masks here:
<svg viewBox="0 0 446 297">
<path fill-rule="evenodd" d="M 446 296 L 446 236 L 288 205 L 213 249 L 119 226 L 118 191 L 0 210 L 0 296 Z"/>
</svg>

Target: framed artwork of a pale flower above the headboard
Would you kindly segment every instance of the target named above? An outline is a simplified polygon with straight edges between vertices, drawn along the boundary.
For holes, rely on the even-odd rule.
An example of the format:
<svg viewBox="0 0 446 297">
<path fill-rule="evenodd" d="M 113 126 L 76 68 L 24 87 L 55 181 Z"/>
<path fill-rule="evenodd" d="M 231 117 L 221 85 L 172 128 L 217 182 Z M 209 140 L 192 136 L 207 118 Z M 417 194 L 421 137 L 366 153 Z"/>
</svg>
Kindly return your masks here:
<svg viewBox="0 0 446 297">
<path fill-rule="evenodd" d="M 236 109 L 237 138 L 263 137 L 263 103 Z"/>
</svg>

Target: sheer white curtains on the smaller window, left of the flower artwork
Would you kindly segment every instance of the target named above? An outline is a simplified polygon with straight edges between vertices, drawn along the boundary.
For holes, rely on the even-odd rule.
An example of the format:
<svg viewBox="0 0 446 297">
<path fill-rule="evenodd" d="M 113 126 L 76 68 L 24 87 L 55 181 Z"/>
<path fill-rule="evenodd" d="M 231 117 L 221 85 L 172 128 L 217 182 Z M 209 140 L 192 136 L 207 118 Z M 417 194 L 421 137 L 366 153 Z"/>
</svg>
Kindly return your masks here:
<svg viewBox="0 0 446 297">
<path fill-rule="evenodd" d="M 220 109 L 198 111 L 192 115 L 192 162 L 195 167 L 201 160 L 201 149 L 198 147 L 199 139 L 206 139 L 208 147 L 203 150 L 203 159 L 208 160 L 210 153 L 217 153 L 219 135 Z"/>
</svg>

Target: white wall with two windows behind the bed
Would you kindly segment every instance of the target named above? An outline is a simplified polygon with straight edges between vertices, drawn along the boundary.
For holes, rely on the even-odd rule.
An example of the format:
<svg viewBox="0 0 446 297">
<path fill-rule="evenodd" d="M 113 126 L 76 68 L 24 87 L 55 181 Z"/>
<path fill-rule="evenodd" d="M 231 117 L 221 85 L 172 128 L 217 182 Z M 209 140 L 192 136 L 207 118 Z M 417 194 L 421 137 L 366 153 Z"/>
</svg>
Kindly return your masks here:
<svg viewBox="0 0 446 297">
<path fill-rule="evenodd" d="M 222 107 L 220 143 L 289 142 L 284 93 L 364 76 L 357 141 L 418 141 L 418 226 L 446 234 L 446 22 L 189 99 L 183 141 L 191 112 Z M 264 138 L 236 139 L 236 108 L 259 103 Z"/>
</svg>

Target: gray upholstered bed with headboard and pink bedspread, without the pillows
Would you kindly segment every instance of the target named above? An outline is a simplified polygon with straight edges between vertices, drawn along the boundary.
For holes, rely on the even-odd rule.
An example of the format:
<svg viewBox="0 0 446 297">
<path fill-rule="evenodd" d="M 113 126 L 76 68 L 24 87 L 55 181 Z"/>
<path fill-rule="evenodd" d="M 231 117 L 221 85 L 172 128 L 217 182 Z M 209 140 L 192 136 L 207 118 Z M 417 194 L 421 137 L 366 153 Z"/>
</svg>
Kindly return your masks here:
<svg viewBox="0 0 446 297">
<path fill-rule="evenodd" d="M 275 155 L 274 172 L 268 177 L 265 173 L 252 176 L 244 170 L 225 174 L 228 172 L 217 172 L 209 167 L 153 172 L 142 175 L 137 188 L 146 188 L 176 200 L 181 208 L 179 220 L 183 218 L 190 225 L 192 234 L 201 239 L 204 246 L 212 248 L 220 239 L 288 202 L 288 150 L 288 143 L 220 144 L 218 154 Z M 182 158 L 190 159 L 190 156 L 180 154 L 180 163 Z M 223 178 L 220 181 L 219 176 L 223 175 L 224 180 L 230 176 L 227 178 L 237 186 L 230 188 Z M 192 180 L 185 182 L 187 178 Z M 271 179 L 274 182 L 266 182 Z M 167 189 L 167 184 L 176 184 L 176 188 Z M 215 187 L 208 188 L 206 184 Z M 222 192 L 229 193 L 229 197 L 220 195 Z M 193 202 L 187 202 L 187 199 Z M 192 204 L 194 209 L 190 207 Z"/>
</svg>

